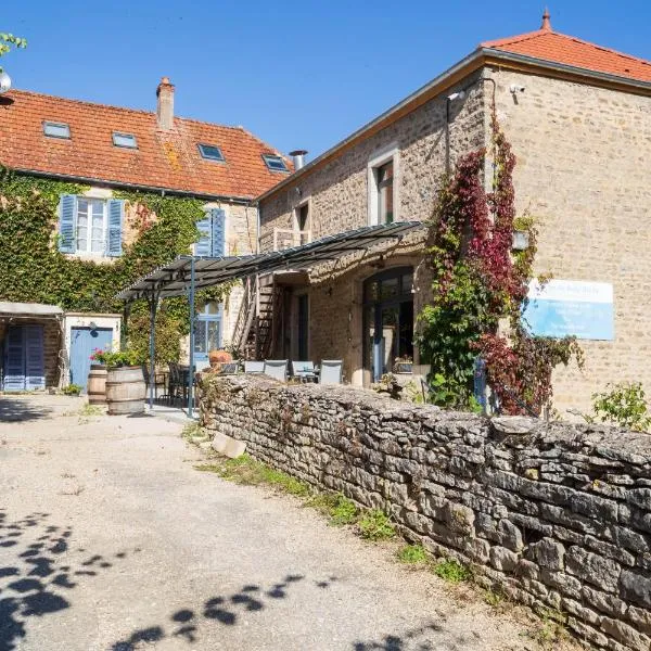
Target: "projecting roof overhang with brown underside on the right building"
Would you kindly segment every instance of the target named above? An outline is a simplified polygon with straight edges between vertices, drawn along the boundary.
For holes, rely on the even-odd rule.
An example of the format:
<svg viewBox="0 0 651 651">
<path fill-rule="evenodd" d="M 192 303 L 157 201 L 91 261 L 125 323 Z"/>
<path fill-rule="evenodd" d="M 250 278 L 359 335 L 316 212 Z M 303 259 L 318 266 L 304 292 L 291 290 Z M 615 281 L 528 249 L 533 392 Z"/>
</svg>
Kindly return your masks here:
<svg viewBox="0 0 651 651">
<path fill-rule="evenodd" d="M 554 63 L 553 61 L 548 61 L 546 59 L 536 59 L 534 56 L 526 56 L 524 54 L 506 52 L 497 48 L 480 47 L 474 52 L 462 59 L 459 63 L 448 68 L 445 73 L 438 75 L 438 77 L 435 77 L 432 79 L 432 81 L 425 84 L 416 92 L 405 98 L 401 102 L 398 102 L 388 111 L 385 111 L 375 119 L 367 123 L 361 128 L 357 129 L 357 131 L 323 152 L 320 156 L 317 156 L 307 165 L 294 171 L 288 178 L 283 179 L 265 193 L 257 196 L 255 202 L 259 203 L 260 201 L 272 196 L 277 192 L 280 192 L 283 188 L 299 181 L 303 177 L 309 175 L 311 171 L 322 167 L 333 158 L 336 158 L 340 154 L 354 144 L 370 138 L 400 117 L 416 111 L 419 106 L 442 94 L 456 84 L 459 84 L 461 80 L 481 67 L 492 64 L 500 67 L 512 67 L 534 74 L 545 74 L 554 78 L 583 81 L 584 84 L 592 84 L 595 86 L 613 88 L 615 90 L 625 92 L 651 95 L 651 82 L 648 81 L 640 81 L 628 77 L 611 75 L 609 73 L 599 73 L 588 68 Z"/>
</svg>

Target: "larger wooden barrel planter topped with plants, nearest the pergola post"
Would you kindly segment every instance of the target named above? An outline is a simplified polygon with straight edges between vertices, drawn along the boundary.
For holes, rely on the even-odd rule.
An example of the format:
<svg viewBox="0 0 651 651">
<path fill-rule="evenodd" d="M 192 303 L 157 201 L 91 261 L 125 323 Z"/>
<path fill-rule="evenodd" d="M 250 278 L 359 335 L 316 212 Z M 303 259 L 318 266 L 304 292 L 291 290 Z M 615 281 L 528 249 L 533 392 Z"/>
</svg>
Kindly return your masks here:
<svg viewBox="0 0 651 651">
<path fill-rule="evenodd" d="M 106 366 L 106 403 L 108 413 L 142 413 L 146 386 L 142 359 L 136 350 L 97 350 L 95 361 Z"/>
</svg>

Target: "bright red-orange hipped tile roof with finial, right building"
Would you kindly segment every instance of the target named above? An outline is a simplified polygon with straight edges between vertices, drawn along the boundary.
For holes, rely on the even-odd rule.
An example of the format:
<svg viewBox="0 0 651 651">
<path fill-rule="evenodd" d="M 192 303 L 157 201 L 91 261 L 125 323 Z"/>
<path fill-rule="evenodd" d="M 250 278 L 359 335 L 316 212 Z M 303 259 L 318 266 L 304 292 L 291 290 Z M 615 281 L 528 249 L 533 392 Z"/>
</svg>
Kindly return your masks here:
<svg viewBox="0 0 651 651">
<path fill-rule="evenodd" d="M 542 27 L 537 31 L 486 41 L 480 47 L 524 54 L 598 73 L 609 73 L 637 81 L 651 81 L 650 61 L 554 31 L 551 29 L 548 15 L 544 16 Z"/>
</svg>

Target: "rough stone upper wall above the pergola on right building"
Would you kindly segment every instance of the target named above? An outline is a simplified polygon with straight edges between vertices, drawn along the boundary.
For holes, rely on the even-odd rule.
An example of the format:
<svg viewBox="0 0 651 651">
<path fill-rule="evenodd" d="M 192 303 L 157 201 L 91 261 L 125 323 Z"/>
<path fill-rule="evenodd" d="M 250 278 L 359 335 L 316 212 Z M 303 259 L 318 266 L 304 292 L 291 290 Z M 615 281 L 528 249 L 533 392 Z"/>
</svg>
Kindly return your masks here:
<svg viewBox="0 0 651 651">
<path fill-rule="evenodd" d="M 463 86 L 472 84 L 477 76 L 478 73 L 465 79 Z M 272 250 L 275 227 L 293 228 L 294 207 L 308 197 L 311 197 L 312 239 L 367 226 L 369 159 L 394 143 L 399 152 L 396 174 L 398 220 L 427 219 L 436 187 L 445 174 L 446 98 L 459 89 L 449 89 L 324 167 L 260 202 L 260 250 Z M 460 154 L 484 144 L 484 86 L 472 86 L 468 93 L 464 102 L 451 104 L 452 165 Z"/>
</svg>

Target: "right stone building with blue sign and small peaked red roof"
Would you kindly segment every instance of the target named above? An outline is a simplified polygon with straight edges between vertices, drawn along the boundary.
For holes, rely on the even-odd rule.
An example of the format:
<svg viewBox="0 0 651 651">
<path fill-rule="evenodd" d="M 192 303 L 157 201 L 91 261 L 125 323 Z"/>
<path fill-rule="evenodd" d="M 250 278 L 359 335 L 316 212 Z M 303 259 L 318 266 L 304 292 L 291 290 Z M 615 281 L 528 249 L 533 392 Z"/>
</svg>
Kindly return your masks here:
<svg viewBox="0 0 651 651">
<path fill-rule="evenodd" d="M 547 12 L 540 29 L 482 43 L 263 193 L 260 250 L 426 220 L 446 171 L 489 143 L 494 108 L 518 157 L 519 212 L 539 228 L 535 270 L 554 278 L 537 331 L 574 333 L 585 352 L 583 371 L 556 373 L 556 406 L 585 409 L 608 382 L 651 386 L 651 63 L 560 34 Z M 429 299 L 422 259 L 422 240 L 404 241 L 336 273 L 277 275 L 273 318 L 286 334 L 272 354 L 342 358 L 355 384 L 395 358 L 418 362 L 411 337 Z"/>
</svg>

